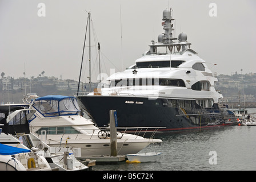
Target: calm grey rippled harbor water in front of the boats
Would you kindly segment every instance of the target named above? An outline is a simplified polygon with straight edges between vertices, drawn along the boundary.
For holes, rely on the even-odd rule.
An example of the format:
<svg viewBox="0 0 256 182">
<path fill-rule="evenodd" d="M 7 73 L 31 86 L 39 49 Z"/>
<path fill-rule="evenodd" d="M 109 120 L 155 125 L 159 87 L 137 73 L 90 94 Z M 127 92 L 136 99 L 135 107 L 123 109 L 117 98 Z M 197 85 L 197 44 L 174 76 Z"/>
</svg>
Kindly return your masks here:
<svg viewBox="0 0 256 182">
<path fill-rule="evenodd" d="M 158 135 L 155 138 L 162 139 L 161 146 L 151 144 L 141 152 L 162 152 L 161 158 L 157 162 L 97 164 L 93 170 L 256 170 L 256 126 L 227 126 L 218 129 Z M 217 164 L 209 163 L 210 151 L 216 152 Z"/>
</svg>

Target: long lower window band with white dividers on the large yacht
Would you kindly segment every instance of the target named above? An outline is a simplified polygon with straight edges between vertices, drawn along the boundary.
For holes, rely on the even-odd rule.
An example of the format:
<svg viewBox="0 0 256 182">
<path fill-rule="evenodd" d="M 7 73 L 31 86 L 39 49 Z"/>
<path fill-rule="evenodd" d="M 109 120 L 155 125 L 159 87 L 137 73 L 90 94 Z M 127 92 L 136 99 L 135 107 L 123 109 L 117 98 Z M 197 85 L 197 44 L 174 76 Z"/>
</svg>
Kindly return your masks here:
<svg viewBox="0 0 256 182">
<path fill-rule="evenodd" d="M 142 86 L 142 85 L 162 85 L 162 86 L 181 86 L 185 87 L 185 82 L 181 79 L 167 78 L 131 78 L 111 80 L 110 87 L 115 86 Z"/>
</svg>

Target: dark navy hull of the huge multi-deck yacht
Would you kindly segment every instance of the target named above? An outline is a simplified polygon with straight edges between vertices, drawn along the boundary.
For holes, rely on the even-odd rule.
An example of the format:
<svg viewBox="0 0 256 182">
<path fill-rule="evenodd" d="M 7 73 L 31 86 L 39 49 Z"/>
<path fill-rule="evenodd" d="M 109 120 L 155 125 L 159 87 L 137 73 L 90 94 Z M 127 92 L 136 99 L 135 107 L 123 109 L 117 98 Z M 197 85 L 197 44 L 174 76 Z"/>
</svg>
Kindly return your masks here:
<svg viewBox="0 0 256 182">
<path fill-rule="evenodd" d="M 108 125 L 110 110 L 117 110 L 118 127 L 166 127 L 158 131 L 175 131 L 237 125 L 234 114 L 221 113 L 216 105 L 203 109 L 194 100 L 89 95 L 77 98 L 98 127 Z M 215 123 L 217 120 L 222 122 Z"/>
</svg>

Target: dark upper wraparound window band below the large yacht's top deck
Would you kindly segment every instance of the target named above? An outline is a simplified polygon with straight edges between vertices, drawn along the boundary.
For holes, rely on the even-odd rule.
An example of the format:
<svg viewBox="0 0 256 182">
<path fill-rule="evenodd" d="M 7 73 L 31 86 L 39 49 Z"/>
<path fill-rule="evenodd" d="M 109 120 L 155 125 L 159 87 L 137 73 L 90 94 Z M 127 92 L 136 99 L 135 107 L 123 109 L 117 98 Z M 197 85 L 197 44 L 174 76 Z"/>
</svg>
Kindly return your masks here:
<svg viewBox="0 0 256 182">
<path fill-rule="evenodd" d="M 171 61 L 171 68 L 178 68 L 185 61 Z M 170 68 L 170 61 L 146 61 L 136 63 L 137 68 Z"/>
</svg>

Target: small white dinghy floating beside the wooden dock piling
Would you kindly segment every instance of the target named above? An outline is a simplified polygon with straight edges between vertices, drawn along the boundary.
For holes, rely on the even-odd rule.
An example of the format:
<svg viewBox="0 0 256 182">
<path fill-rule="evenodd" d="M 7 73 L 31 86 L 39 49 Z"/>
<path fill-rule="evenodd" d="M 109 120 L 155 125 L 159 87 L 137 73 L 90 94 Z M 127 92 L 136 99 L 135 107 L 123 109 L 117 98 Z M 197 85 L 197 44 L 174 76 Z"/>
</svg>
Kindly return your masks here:
<svg viewBox="0 0 256 182">
<path fill-rule="evenodd" d="M 141 163 L 141 162 L 152 162 L 160 158 L 161 152 L 146 152 L 139 154 L 126 154 L 128 160 L 127 163 Z"/>
</svg>

